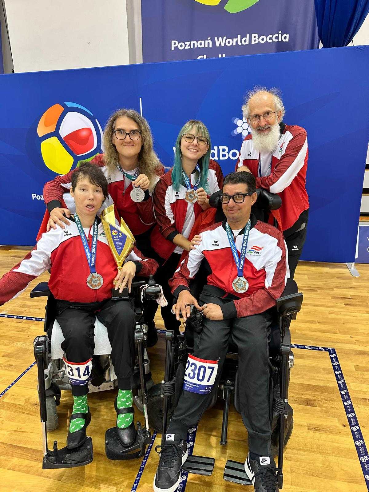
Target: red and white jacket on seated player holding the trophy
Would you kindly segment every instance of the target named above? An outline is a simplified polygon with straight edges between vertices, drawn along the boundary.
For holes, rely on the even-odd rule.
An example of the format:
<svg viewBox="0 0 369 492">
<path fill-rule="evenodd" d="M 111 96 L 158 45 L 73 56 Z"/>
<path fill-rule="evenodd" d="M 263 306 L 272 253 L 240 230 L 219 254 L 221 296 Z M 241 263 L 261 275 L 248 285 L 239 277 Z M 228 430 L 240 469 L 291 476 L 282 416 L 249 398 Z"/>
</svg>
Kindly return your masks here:
<svg viewBox="0 0 369 492">
<path fill-rule="evenodd" d="M 108 246 L 105 232 L 98 219 L 96 245 L 96 272 L 103 277 L 103 285 L 96 290 L 87 285 L 90 268 L 85 250 L 74 222 L 65 229 L 57 227 L 42 234 L 41 239 L 24 259 L 0 279 L 0 306 L 21 294 L 34 278 L 51 268 L 49 288 L 56 299 L 75 303 L 94 303 L 105 301 L 112 296 L 113 280 L 117 275 L 117 265 Z M 92 227 L 84 229 L 89 246 L 92 244 Z M 126 261 L 136 265 L 136 275 L 154 275 L 158 267 L 156 261 L 145 258 L 135 247 Z"/>
</svg>

